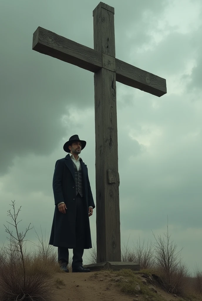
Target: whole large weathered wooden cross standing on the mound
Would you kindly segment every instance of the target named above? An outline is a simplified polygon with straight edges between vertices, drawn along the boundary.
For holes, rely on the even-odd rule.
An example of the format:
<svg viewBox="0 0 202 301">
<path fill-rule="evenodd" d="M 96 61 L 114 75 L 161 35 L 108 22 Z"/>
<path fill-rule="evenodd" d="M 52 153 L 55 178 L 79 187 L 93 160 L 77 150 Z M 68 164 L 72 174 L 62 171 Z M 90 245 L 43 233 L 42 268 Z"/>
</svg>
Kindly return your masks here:
<svg viewBox="0 0 202 301">
<path fill-rule="evenodd" d="M 114 8 L 93 11 L 94 49 L 38 27 L 32 49 L 94 73 L 97 262 L 120 262 L 116 81 L 164 95 L 166 80 L 115 58 Z"/>
</svg>

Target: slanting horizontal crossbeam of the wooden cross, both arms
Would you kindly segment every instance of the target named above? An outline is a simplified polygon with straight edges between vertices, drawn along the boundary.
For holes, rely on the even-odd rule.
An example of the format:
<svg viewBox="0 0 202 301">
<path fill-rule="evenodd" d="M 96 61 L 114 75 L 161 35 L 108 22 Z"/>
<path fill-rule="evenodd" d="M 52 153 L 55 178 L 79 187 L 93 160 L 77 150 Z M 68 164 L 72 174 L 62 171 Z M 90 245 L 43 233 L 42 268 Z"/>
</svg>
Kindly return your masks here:
<svg viewBox="0 0 202 301">
<path fill-rule="evenodd" d="M 106 55 L 42 27 L 38 27 L 33 34 L 32 49 L 93 73 L 102 67 L 109 69 L 106 66 Z M 167 93 L 164 78 L 118 59 L 115 59 L 114 65 L 113 71 L 116 72 L 116 81 L 158 97 Z"/>
</svg>

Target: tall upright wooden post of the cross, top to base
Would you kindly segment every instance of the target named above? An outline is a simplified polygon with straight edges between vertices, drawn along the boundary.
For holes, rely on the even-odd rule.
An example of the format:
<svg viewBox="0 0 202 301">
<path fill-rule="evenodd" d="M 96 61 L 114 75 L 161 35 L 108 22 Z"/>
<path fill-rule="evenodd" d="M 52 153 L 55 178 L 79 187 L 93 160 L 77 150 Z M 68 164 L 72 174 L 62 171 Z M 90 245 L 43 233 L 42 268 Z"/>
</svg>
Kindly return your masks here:
<svg viewBox="0 0 202 301">
<path fill-rule="evenodd" d="M 121 261 L 114 8 L 93 11 L 94 49 L 103 68 L 94 74 L 97 262 Z"/>
</svg>

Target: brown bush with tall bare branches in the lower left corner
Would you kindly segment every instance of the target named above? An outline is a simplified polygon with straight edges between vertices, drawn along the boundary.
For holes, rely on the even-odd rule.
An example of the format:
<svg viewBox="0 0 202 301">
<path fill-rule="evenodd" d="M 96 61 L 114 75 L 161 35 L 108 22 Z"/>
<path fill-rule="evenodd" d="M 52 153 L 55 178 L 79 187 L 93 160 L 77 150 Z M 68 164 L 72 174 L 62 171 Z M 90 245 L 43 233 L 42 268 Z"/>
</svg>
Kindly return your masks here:
<svg viewBox="0 0 202 301">
<path fill-rule="evenodd" d="M 15 201 L 14 201 L 15 202 Z M 12 222 L 8 224 L 15 228 L 15 234 L 6 227 L 9 243 L 1 250 L 3 260 L 0 261 L 0 300 L 1 301 L 48 301 L 52 299 L 53 278 L 47 273 L 44 265 L 33 266 L 30 254 L 26 252 L 25 235 L 31 229 L 26 228 L 25 233 L 18 231 L 17 221 L 20 209 L 15 211 L 15 203 L 12 201 L 12 209 L 8 210 L 8 216 Z M 2 257 L 1 257 L 2 258 Z"/>
</svg>

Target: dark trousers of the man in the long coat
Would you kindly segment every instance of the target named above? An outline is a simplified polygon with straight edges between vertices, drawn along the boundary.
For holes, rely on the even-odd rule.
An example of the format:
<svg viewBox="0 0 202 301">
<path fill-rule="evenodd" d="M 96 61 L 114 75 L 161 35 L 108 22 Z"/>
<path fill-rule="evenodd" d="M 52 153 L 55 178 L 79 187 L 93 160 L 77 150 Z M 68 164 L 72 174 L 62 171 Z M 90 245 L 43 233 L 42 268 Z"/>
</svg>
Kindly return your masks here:
<svg viewBox="0 0 202 301">
<path fill-rule="evenodd" d="M 78 268 L 83 263 L 85 242 L 85 204 L 83 197 L 78 194 L 76 202 L 76 247 L 73 248 L 72 268 Z M 67 209 L 68 210 L 68 209 Z M 69 249 L 58 247 L 58 262 L 62 264 L 69 263 Z"/>
</svg>

